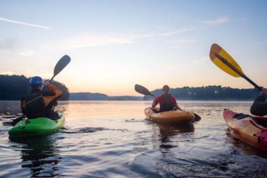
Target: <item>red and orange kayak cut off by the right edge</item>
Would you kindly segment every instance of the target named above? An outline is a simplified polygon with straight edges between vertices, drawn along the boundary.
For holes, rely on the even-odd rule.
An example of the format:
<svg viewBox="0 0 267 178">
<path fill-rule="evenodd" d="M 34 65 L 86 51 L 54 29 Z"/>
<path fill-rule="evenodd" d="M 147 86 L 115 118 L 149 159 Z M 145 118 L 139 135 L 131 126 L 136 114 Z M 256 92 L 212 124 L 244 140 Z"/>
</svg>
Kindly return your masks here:
<svg viewBox="0 0 267 178">
<path fill-rule="evenodd" d="M 223 118 L 234 137 L 267 151 L 267 117 L 252 117 L 227 109 Z"/>
</svg>

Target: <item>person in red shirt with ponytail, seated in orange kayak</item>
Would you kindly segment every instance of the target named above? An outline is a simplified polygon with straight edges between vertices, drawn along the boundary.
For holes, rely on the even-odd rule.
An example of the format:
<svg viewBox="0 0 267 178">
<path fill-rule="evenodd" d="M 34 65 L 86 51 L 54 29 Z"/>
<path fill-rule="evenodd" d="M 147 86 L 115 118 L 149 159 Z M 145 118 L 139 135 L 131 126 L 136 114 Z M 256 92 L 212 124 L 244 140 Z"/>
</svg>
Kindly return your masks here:
<svg viewBox="0 0 267 178">
<path fill-rule="evenodd" d="M 160 109 L 159 112 L 169 111 L 169 110 L 181 110 L 178 106 L 175 98 L 169 94 L 170 87 L 168 85 L 164 85 L 162 88 L 163 94 L 161 96 L 154 96 L 154 101 L 152 103 L 152 108 L 155 108 L 159 103 Z"/>
</svg>

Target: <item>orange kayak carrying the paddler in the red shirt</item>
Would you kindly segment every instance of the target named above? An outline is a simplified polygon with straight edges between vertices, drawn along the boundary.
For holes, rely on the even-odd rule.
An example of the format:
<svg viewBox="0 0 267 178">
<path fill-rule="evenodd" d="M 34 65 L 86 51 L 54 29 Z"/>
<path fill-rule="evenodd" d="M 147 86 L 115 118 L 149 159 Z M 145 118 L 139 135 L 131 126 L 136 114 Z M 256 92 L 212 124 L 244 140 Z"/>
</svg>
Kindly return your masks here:
<svg viewBox="0 0 267 178">
<path fill-rule="evenodd" d="M 181 110 L 171 110 L 160 113 L 153 112 L 152 109 L 159 108 L 146 108 L 144 113 L 146 115 L 146 119 L 153 120 L 161 123 L 190 123 L 194 120 L 195 115 L 191 112 L 181 111 Z"/>
</svg>

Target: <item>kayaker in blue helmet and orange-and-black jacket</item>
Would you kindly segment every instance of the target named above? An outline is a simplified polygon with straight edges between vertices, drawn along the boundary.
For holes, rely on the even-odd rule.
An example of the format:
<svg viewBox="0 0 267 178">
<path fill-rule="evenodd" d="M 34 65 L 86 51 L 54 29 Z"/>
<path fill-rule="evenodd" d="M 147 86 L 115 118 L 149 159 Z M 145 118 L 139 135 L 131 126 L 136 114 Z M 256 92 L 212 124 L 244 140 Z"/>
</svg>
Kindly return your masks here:
<svg viewBox="0 0 267 178">
<path fill-rule="evenodd" d="M 57 119 L 58 114 L 54 112 L 57 99 L 62 95 L 62 91 L 56 86 L 45 81 L 41 77 L 30 79 L 32 91 L 21 98 L 22 113 L 28 118 L 48 117 Z M 46 87 L 48 91 L 42 91 Z"/>
</svg>

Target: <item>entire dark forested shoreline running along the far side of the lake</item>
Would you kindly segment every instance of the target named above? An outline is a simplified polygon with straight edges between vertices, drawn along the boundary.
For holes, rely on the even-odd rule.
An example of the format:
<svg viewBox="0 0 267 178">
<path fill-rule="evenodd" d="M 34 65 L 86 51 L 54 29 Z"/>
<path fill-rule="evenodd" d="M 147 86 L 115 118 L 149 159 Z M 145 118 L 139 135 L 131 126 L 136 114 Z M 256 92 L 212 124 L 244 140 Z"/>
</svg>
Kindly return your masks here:
<svg viewBox="0 0 267 178">
<path fill-rule="evenodd" d="M 30 92 L 30 78 L 18 75 L 0 75 L 0 100 L 20 100 L 22 96 Z M 102 93 L 69 93 L 69 89 L 62 83 L 53 81 L 53 85 L 63 92 L 59 100 L 152 100 L 152 96 L 108 96 Z M 152 94 L 160 96 L 162 89 L 151 91 Z M 198 100 L 198 101 L 252 101 L 260 94 L 257 89 L 238 89 L 222 86 L 182 87 L 171 88 L 170 93 L 177 100 Z"/>
</svg>

